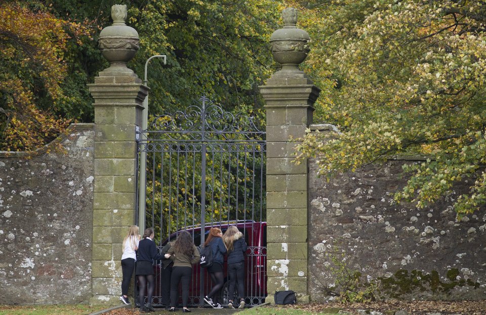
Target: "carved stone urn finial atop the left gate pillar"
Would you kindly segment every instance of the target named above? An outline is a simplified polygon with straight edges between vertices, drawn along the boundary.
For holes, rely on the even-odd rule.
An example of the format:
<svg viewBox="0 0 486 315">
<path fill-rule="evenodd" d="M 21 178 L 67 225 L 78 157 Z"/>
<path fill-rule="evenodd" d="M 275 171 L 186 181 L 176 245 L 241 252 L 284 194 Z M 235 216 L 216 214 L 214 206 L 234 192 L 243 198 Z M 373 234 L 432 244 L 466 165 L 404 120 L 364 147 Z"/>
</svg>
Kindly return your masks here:
<svg viewBox="0 0 486 315">
<path fill-rule="evenodd" d="M 133 70 L 127 68 L 127 62 L 135 57 L 140 48 L 139 37 L 133 27 L 125 24 L 127 5 L 112 6 L 111 17 L 113 24 L 101 30 L 98 41 L 103 57 L 110 62 L 110 67 L 104 71 L 135 75 Z"/>
</svg>

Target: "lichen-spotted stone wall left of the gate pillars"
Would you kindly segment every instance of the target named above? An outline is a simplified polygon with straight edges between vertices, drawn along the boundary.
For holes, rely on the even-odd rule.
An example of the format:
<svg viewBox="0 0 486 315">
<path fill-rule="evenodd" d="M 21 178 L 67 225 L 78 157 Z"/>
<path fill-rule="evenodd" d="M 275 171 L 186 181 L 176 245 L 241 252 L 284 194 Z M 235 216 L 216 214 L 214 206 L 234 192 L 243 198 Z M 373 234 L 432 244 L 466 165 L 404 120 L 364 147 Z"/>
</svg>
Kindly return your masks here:
<svg viewBox="0 0 486 315">
<path fill-rule="evenodd" d="M 92 296 L 93 125 L 59 141 L 65 153 L 0 153 L 0 304 Z"/>
</svg>

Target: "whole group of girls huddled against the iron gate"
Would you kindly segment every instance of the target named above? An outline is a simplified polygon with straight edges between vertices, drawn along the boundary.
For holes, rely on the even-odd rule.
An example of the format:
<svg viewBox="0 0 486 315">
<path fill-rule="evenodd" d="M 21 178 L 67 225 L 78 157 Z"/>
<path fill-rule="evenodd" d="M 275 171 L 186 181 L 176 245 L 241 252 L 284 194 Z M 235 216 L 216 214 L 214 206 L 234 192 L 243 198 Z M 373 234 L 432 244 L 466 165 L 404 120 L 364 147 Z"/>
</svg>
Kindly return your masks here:
<svg viewBox="0 0 486 315">
<path fill-rule="evenodd" d="M 170 306 L 166 307 L 169 311 L 176 310 L 176 303 L 179 299 L 179 284 L 182 287 L 182 311 L 190 312 L 187 307 L 189 298 L 189 287 L 192 278 L 192 265 L 199 262 L 199 251 L 192 242 L 191 234 L 187 231 L 180 231 L 177 239 L 173 243 L 168 243 L 163 248 L 161 254 L 157 254 L 157 249 L 153 242 L 153 228 L 145 229 L 143 239 L 138 235 L 138 227 L 132 225 L 127 237 L 123 241 L 123 255 L 121 256 L 121 269 L 123 280 L 121 282 L 120 300 L 125 304 L 130 304 L 128 300 L 128 287 L 130 279 L 135 268 L 135 275 L 139 282 L 139 303 L 140 311 L 154 311 L 152 307 L 152 295 L 155 287 L 155 278 L 153 271 L 153 260 L 162 260 L 163 279 L 169 279 L 170 287 L 166 283 L 162 284 L 162 295 L 166 299 L 169 296 L 170 288 Z M 247 244 L 243 234 L 231 225 L 226 232 L 222 233 L 217 227 L 211 228 L 208 238 L 204 243 L 205 247 L 211 247 L 213 254 L 213 264 L 208 268 L 213 287 L 204 297 L 204 301 L 213 308 L 223 308 L 220 303 L 213 301 L 213 298 L 220 292 L 224 285 L 223 274 L 223 256 L 228 255 L 228 279 L 229 279 L 229 308 L 243 308 L 245 301 L 242 298 L 244 292 L 244 261 Z M 167 278 L 164 277 L 166 275 Z M 148 283 L 148 288 L 147 288 Z M 145 289 L 147 288 L 148 303 L 144 303 Z M 239 302 L 234 299 L 236 292 L 239 295 Z M 166 294 L 164 294 L 166 293 Z M 164 301 L 162 301 L 164 303 Z M 166 300 L 166 305 L 169 301 Z"/>
</svg>

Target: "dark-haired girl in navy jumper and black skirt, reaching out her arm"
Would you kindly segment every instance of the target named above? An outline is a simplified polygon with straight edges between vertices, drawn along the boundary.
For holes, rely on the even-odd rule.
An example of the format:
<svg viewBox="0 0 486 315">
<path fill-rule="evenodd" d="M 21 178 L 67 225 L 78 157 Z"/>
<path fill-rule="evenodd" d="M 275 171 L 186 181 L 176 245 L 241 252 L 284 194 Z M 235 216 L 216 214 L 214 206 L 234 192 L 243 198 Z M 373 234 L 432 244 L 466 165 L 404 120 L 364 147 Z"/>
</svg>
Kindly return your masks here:
<svg viewBox="0 0 486 315">
<path fill-rule="evenodd" d="M 143 233 L 143 240 L 138 243 L 137 251 L 137 267 L 135 269 L 135 275 L 137 275 L 138 283 L 140 284 L 139 302 L 140 311 L 149 312 L 154 311 L 152 307 L 152 295 L 155 289 L 155 277 L 153 272 L 153 260 L 162 259 L 164 255 L 157 254 L 157 248 L 153 242 L 153 228 L 149 227 L 145 229 Z M 147 290 L 147 305 L 144 305 L 145 288 L 148 282 Z"/>
</svg>

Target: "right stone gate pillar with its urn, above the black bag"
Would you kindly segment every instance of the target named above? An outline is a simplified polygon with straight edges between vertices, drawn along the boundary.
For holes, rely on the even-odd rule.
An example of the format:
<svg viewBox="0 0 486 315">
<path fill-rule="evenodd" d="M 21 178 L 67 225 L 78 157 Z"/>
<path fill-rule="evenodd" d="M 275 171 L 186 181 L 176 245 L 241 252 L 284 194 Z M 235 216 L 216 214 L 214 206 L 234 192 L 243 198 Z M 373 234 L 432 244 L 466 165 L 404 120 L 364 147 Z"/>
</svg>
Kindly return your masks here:
<svg viewBox="0 0 486 315">
<path fill-rule="evenodd" d="M 295 165 L 296 142 L 312 124 L 320 90 L 299 70 L 307 57 L 309 34 L 296 27 L 297 10 L 282 12 L 284 28 L 273 32 L 271 51 L 281 70 L 260 91 L 267 115 L 267 291 L 294 290 L 299 302 L 307 294 L 307 163 Z"/>
</svg>

